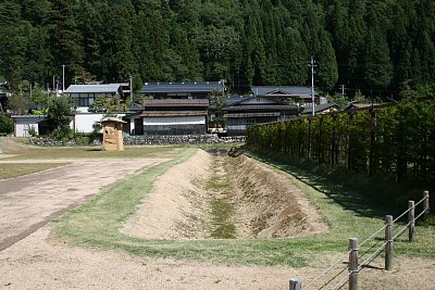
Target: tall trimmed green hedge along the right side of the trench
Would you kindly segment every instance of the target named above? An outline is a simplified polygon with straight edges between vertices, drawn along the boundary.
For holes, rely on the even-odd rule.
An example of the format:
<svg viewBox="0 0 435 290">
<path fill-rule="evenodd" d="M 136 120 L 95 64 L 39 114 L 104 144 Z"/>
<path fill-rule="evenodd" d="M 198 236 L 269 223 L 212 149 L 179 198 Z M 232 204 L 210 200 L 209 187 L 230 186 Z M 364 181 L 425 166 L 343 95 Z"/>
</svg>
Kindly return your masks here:
<svg viewBox="0 0 435 290">
<path fill-rule="evenodd" d="M 383 180 L 435 181 L 435 103 L 407 99 L 376 111 L 251 126 L 248 147 Z"/>
</svg>

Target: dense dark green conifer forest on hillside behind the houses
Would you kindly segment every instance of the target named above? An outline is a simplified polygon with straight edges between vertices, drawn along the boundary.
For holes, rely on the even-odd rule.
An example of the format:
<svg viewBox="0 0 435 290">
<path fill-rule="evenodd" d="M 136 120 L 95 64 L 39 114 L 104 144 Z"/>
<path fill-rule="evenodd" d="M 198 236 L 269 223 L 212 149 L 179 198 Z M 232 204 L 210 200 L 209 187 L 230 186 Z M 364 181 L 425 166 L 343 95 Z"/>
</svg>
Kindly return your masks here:
<svg viewBox="0 0 435 290">
<path fill-rule="evenodd" d="M 433 0 L 0 0 L 0 78 L 315 85 L 432 85 Z"/>
</svg>

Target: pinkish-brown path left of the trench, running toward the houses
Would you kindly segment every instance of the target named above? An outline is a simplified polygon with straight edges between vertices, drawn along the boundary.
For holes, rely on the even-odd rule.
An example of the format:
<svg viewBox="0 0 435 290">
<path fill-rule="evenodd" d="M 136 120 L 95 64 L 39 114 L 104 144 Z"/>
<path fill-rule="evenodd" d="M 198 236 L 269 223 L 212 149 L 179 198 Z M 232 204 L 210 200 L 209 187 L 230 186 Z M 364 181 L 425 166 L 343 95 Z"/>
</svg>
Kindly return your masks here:
<svg viewBox="0 0 435 290">
<path fill-rule="evenodd" d="M 24 239 L 114 181 L 162 161 L 73 161 L 67 166 L 0 180 L 0 251 Z"/>
</svg>

